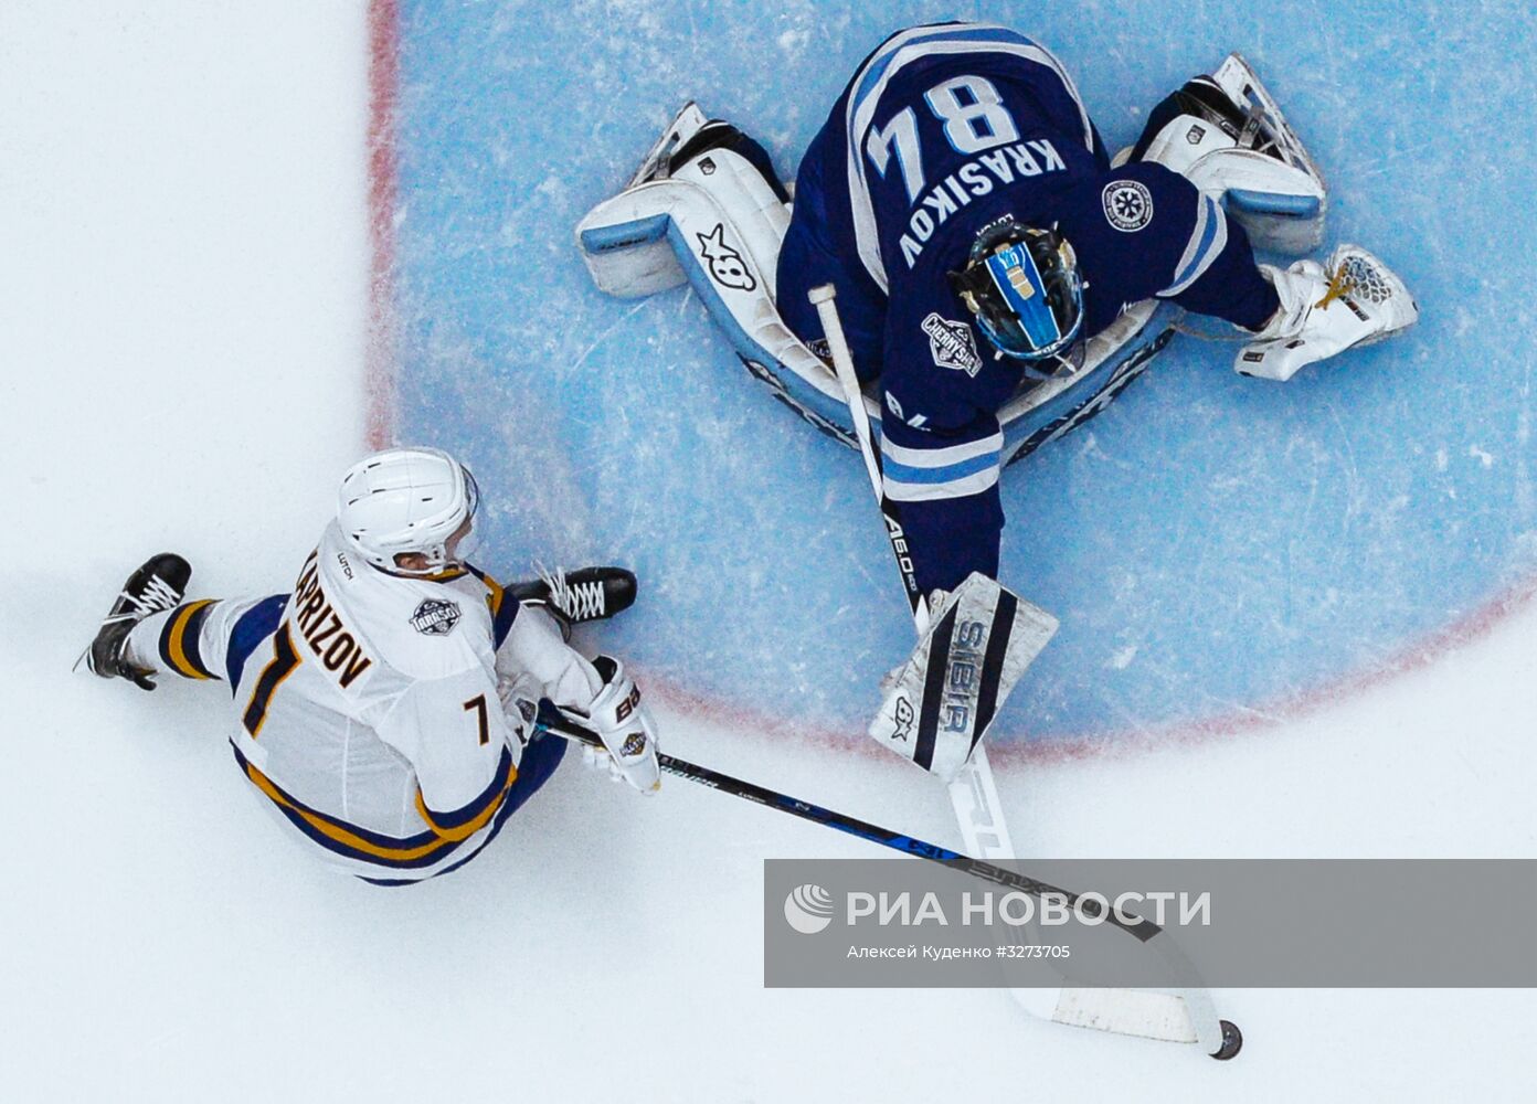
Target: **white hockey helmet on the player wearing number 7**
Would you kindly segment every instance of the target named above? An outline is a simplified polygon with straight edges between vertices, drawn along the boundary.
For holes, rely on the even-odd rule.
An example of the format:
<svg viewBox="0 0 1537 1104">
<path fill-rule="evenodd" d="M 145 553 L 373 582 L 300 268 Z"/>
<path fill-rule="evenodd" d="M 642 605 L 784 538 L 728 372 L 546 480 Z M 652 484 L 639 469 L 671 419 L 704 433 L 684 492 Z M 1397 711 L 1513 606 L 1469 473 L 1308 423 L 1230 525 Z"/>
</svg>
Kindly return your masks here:
<svg viewBox="0 0 1537 1104">
<path fill-rule="evenodd" d="M 341 535 L 375 567 L 397 575 L 435 575 L 455 567 L 449 538 L 475 517 L 480 487 L 458 460 L 441 449 L 384 449 L 341 477 L 337 523 Z M 424 570 L 395 557 L 415 552 Z"/>
</svg>

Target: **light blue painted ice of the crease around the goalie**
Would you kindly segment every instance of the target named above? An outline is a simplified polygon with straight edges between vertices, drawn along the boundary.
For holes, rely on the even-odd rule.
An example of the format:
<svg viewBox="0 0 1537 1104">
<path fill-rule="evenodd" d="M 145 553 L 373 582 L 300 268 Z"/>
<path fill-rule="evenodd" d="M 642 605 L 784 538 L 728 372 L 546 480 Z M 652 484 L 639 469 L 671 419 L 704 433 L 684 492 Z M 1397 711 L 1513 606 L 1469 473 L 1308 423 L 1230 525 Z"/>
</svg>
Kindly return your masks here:
<svg viewBox="0 0 1537 1104">
<path fill-rule="evenodd" d="M 618 640 L 659 686 L 858 730 L 871 672 L 908 649 L 858 460 L 750 380 L 690 292 L 593 291 L 572 226 L 689 97 L 793 174 L 904 23 L 979 12 L 1039 37 L 1111 148 L 1240 49 L 1331 183 L 1330 243 L 1396 266 L 1423 320 L 1286 386 L 1180 338 L 1013 467 L 1002 575 L 1062 632 L 998 737 L 1142 740 L 1402 663 L 1537 572 L 1531 364 L 1511 340 L 1531 311 L 1534 94 L 1506 46 L 1529 6 L 1180 11 L 406 0 L 401 434 L 526 487 L 495 517 L 510 561 L 632 561 L 647 594 Z"/>
</svg>

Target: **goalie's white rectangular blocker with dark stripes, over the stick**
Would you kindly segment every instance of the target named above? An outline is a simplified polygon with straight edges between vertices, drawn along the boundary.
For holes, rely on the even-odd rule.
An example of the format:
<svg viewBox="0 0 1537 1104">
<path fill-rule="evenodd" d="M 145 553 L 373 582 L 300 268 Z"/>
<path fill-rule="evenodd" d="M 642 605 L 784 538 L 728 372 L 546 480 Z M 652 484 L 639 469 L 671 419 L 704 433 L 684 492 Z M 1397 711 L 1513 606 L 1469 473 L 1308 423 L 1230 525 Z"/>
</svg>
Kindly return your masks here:
<svg viewBox="0 0 1537 1104">
<path fill-rule="evenodd" d="M 951 781 L 1056 630 L 1044 609 L 973 572 L 933 610 L 870 737 Z"/>
</svg>

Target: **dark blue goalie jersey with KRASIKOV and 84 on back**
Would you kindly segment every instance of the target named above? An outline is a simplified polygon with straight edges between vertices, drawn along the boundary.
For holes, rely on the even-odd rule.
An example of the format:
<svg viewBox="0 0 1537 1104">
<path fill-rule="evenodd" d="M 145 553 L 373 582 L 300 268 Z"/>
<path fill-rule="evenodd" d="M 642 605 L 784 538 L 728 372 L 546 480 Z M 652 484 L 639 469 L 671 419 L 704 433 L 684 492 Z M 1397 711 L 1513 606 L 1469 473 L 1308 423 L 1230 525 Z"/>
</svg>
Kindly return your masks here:
<svg viewBox="0 0 1537 1104">
<path fill-rule="evenodd" d="M 1084 335 L 1170 298 L 1257 329 L 1276 311 L 1243 231 L 1183 177 L 1110 168 L 1050 51 L 1001 26 L 942 23 L 887 38 L 850 80 L 796 180 L 778 301 L 821 337 L 807 289 L 838 288 L 855 364 L 879 375 L 882 467 L 919 583 L 998 574 L 1002 434 L 1022 380 L 951 292 L 978 232 L 1011 217 L 1077 254 Z"/>
</svg>

